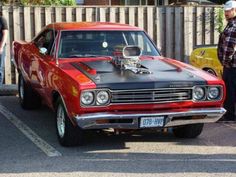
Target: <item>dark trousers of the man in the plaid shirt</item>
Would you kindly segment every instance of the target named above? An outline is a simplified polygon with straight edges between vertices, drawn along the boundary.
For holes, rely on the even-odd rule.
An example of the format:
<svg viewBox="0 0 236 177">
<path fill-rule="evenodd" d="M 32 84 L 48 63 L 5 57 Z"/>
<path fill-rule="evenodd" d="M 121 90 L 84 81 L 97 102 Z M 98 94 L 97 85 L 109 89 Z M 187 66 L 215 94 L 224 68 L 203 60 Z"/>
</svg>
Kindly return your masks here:
<svg viewBox="0 0 236 177">
<path fill-rule="evenodd" d="M 226 120 L 235 119 L 235 103 L 236 103 L 236 68 L 223 69 L 223 80 L 226 86 L 226 99 L 224 108 L 227 110 L 224 118 Z"/>
</svg>

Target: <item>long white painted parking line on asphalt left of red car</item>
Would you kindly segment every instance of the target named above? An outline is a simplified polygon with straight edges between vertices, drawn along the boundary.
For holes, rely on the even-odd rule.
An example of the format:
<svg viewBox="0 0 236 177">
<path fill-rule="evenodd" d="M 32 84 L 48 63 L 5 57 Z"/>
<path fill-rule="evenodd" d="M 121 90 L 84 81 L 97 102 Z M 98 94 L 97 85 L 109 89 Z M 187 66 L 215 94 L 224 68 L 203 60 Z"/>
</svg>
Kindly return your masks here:
<svg viewBox="0 0 236 177">
<path fill-rule="evenodd" d="M 40 138 L 32 129 L 18 119 L 13 113 L 7 108 L 0 104 L 0 112 L 14 124 L 27 138 L 29 138 L 39 149 L 41 149 L 47 156 L 55 157 L 61 156 L 55 148 L 49 145 L 46 141 Z"/>
</svg>

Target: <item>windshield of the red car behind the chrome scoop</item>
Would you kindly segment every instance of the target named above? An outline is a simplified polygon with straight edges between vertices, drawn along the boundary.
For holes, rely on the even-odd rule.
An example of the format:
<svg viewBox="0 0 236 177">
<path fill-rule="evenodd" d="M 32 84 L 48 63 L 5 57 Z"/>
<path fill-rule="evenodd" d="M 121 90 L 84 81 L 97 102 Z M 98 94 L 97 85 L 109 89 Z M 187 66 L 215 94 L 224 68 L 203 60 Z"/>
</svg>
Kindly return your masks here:
<svg viewBox="0 0 236 177">
<path fill-rule="evenodd" d="M 159 56 L 143 31 L 62 31 L 58 57 L 115 56 L 127 45 L 139 46 L 141 55 Z"/>
</svg>

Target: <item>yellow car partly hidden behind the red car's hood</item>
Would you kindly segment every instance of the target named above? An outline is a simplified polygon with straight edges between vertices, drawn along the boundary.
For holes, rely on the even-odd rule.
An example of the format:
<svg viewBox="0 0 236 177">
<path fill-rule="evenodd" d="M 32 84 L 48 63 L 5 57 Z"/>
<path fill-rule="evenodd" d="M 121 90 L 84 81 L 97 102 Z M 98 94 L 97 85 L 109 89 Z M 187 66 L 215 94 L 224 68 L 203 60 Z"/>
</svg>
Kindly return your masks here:
<svg viewBox="0 0 236 177">
<path fill-rule="evenodd" d="M 222 77 L 223 67 L 217 57 L 216 45 L 197 46 L 190 55 L 189 63 L 219 78 Z"/>
</svg>

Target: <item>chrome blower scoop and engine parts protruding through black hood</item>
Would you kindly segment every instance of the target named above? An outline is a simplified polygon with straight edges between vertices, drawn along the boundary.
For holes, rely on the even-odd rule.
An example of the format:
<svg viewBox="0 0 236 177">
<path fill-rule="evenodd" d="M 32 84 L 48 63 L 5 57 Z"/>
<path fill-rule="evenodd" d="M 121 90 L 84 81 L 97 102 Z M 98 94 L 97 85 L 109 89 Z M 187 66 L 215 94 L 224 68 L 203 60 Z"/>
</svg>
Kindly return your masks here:
<svg viewBox="0 0 236 177">
<path fill-rule="evenodd" d="M 115 53 L 112 62 L 120 70 L 129 70 L 135 74 L 151 74 L 152 72 L 141 64 L 141 52 L 138 46 L 126 46 L 122 53 Z"/>
</svg>

